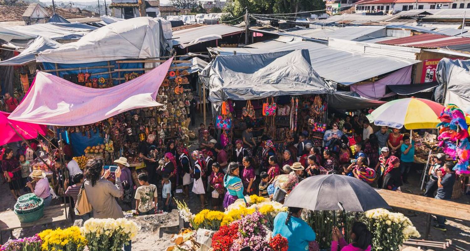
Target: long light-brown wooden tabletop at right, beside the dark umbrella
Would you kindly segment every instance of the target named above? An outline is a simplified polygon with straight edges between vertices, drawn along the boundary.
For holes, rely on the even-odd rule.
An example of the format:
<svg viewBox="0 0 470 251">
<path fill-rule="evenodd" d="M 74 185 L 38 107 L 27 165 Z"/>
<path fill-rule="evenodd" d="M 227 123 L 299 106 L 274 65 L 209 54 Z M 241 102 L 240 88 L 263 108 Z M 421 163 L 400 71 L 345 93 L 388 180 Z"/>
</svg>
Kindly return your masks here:
<svg viewBox="0 0 470 251">
<path fill-rule="evenodd" d="M 400 194 L 385 189 L 376 189 L 376 191 L 391 207 L 431 213 L 454 219 L 470 219 L 470 205 L 467 204 L 438 200 L 415 194 Z"/>
</svg>

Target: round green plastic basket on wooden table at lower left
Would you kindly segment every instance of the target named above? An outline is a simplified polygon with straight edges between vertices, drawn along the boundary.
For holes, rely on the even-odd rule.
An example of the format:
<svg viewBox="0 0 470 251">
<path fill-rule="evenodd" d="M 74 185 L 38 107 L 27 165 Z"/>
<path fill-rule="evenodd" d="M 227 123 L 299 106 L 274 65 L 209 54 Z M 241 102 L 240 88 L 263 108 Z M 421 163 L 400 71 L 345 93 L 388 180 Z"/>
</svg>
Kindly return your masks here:
<svg viewBox="0 0 470 251">
<path fill-rule="evenodd" d="M 30 202 L 39 202 L 39 205 L 34 208 L 30 208 L 28 210 L 20 210 L 19 208 L 22 207 L 24 204 Z M 44 215 L 44 200 L 36 194 L 24 194 L 18 198 L 15 203 L 14 212 L 18 217 L 20 222 L 27 223 L 33 222 L 38 219 L 41 219 Z"/>
</svg>

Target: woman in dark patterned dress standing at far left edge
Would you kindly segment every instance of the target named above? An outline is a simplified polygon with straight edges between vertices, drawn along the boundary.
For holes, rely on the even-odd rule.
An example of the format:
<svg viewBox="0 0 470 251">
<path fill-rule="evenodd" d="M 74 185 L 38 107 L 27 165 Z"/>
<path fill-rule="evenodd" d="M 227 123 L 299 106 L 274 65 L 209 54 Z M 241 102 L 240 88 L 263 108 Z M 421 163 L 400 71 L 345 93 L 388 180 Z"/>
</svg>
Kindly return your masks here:
<svg viewBox="0 0 470 251">
<path fill-rule="evenodd" d="M 11 148 L 5 149 L 3 160 L 1 161 L 1 168 L 5 178 L 7 178 L 10 192 L 13 194 L 13 197 L 15 197 L 15 200 L 17 200 L 18 197 L 21 196 L 20 189 L 22 188 L 21 166 L 20 162 L 13 157 L 13 150 Z"/>
</svg>

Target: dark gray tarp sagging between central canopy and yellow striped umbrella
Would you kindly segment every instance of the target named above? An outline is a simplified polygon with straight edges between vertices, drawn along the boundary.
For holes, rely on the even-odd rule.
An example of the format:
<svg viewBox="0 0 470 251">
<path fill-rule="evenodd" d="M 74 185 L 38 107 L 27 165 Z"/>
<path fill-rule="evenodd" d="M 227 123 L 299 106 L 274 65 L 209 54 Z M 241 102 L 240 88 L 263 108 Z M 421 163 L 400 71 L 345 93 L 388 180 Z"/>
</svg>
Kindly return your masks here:
<svg viewBox="0 0 470 251">
<path fill-rule="evenodd" d="M 337 91 L 328 98 L 328 105 L 338 110 L 358 110 L 376 107 L 387 102 L 360 97 L 354 91 Z"/>
</svg>

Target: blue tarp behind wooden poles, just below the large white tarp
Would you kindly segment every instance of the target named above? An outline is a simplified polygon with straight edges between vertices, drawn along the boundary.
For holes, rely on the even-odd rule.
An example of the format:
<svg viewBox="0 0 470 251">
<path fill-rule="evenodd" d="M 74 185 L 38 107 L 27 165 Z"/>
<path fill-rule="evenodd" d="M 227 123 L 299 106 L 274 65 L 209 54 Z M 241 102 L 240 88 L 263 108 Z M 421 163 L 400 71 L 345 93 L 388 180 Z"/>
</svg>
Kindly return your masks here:
<svg viewBox="0 0 470 251">
<path fill-rule="evenodd" d="M 55 70 L 55 64 L 54 63 L 42 63 L 44 65 L 45 70 Z M 98 69 L 91 69 L 87 67 L 94 67 L 94 66 L 107 66 L 108 62 L 103 61 L 103 62 L 95 62 L 95 63 L 87 63 L 87 64 L 57 64 L 58 69 L 66 69 L 66 68 L 81 68 L 80 70 L 73 70 L 73 71 L 61 71 L 59 73 L 59 77 L 63 78 L 63 75 L 65 74 L 78 74 L 80 71 L 82 73 L 85 73 L 88 70 L 88 73 L 93 74 L 93 73 L 103 73 L 103 74 L 97 74 L 91 76 L 91 78 L 105 78 L 109 79 L 110 74 L 108 72 L 108 68 L 98 68 Z M 110 65 L 114 65 L 114 68 L 111 68 L 111 71 L 114 69 L 118 69 L 118 65 L 116 64 L 116 61 L 110 61 Z M 127 63 L 127 64 L 119 64 L 120 69 L 135 69 L 135 68 L 143 68 L 143 63 Z M 51 74 L 56 75 L 55 72 L 50 72 Z M 116 78 L 123 78 L 125 73 L 143 73 L 143 71 L 128 71 L 128 72 L 116 72 L 116 73 L 111 73 L 113 79 Z M 121 80 L 121 83 L 124 83 L 125 80 Z M 114 85 L 117 85 L 119 81 L 114 80 Z"/>
</svg>

